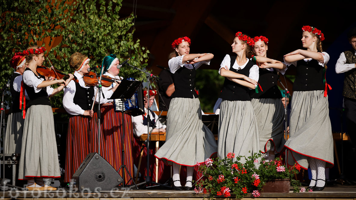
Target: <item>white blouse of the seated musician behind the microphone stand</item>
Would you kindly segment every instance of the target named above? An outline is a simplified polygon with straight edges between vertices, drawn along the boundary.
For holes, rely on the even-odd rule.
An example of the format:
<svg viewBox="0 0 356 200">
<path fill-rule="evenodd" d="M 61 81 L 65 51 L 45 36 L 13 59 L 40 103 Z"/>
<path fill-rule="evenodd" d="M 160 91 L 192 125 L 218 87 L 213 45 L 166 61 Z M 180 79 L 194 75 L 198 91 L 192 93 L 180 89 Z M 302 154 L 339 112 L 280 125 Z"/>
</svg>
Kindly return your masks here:
<svg viewBox="0 0 356 200">
<path fill-rule="evenodd" d="M 145 116 L 147 117 L 147 108 L 145 108 Z M 155 119 L 156 126 L 155 128 L 166 128 L 166 125 L 163 125 L 159 120 L 158 116 L 155 114 L 155 116 L 150 113 L 150 119 L 153 120 Z M 143 115 L 138 115 L 136 117 L 131 117 L 132 121 L 132 126 L 133 126 L 133 134 L 135 134 L 136 137 L 140 137 L 142 134 L 147 134 L 147 125 L 143 125 Z M 150 128 L 150 131 L 152 130 L 152 127 Z"/>
</svg>

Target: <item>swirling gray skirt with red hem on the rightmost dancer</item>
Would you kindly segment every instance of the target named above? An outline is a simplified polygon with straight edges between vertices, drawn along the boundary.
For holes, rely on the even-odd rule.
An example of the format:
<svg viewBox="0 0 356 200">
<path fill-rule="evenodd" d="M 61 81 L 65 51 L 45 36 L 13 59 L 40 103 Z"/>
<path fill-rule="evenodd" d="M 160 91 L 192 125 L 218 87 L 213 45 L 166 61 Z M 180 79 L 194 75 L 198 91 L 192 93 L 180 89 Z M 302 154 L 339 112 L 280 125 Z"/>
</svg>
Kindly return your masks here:
<svg viewBox="0 0 356 200">
<path fill-rule="evenodd" d="M 297 162 L 307 169 L 308 159 L 316 158 L 334 165 L 333 135 L 328 97 L 323 90 L 294 91 L 289 122 L 288 164 Z"/>
</svg>

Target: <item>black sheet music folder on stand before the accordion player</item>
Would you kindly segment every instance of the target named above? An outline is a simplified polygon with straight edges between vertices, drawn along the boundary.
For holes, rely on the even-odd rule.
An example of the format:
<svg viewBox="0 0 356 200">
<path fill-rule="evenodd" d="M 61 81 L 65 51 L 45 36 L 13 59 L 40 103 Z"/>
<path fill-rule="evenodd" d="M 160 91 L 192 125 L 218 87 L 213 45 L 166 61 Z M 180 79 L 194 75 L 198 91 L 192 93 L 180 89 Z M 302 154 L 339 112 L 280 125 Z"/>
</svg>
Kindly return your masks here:
<svg viewBox="0 0 356 200">
<path fill-rule="evenodd" d="M 130 99 L 137 89 L 140 88 L 142 81 L 123 79 L 108 99 Z"/>
</svg>

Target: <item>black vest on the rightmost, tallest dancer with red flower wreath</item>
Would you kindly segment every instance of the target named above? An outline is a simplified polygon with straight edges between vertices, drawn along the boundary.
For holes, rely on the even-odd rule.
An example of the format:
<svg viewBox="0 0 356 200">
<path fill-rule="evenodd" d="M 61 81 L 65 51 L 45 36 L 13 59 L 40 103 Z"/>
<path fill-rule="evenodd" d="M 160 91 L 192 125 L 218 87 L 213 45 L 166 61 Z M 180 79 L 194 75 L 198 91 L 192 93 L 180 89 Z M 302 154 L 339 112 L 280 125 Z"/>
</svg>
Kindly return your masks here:
<svg viewBox="0 0 356 200">
<path fill-rule="evenodd" d="M 318 60 L 297 61 L 297 76 L 293 84 L 293 91 L 324 90 L 324 67 Z"/>
</svg>

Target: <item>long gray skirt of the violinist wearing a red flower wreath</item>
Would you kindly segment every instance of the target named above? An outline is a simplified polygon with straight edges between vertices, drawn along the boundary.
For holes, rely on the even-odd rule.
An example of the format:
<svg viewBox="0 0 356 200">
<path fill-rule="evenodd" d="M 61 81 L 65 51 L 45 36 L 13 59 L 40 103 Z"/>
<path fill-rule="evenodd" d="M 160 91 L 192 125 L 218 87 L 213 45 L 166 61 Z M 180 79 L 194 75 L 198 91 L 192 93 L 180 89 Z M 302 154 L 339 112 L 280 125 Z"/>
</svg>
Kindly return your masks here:
<svg viewBox="0 0 356 200">
<path fill-rule="evenodd" d="M 61 177 L 53 112 L 48 105 L 30 106 L 23 124 L 19 179 L 32 177 Z"/>
</svg>

